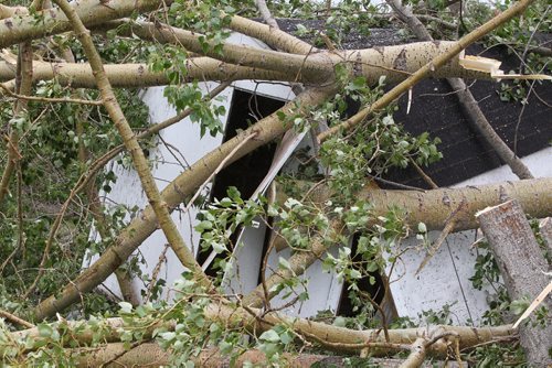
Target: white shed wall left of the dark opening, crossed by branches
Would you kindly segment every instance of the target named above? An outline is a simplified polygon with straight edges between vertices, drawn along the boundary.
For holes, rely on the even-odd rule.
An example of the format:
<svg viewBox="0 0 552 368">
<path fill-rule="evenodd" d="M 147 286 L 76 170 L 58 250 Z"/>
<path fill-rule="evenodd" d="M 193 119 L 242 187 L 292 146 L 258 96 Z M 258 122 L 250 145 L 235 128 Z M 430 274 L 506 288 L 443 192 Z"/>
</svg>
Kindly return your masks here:
<svg viewBox="0 0 552 368">
<path fill-rule="evenodd" d="M 209 90 L 215 88 L 216 85 L 217 84 L 214 83 L 208 83 L 201 84 L 200 87 L 204 94 L 206 94 Z M 177 115 L 174 108 L 170 106 L 163 97 L 163 87 L 148 88 L 141 97 L 150 108 L 149 115 L 151 123 L 161 122 Z M 226 116 L 221 118 L 223 123 L 225 123 L 227 118 L 233 88 L 227 88 L 220 95 L 224 100 L 217 104 L 226 107 Z M 152 150 L 150 153 L 155 158 L 152 159 L 152 174 L 159 191 L 162 191 L 168 183 L 187 170 L 189 165 L 201 159 L 209 151 L 219 147 L 223 139 L 223 134 L 211 137 L 209 133 L 200 139 L 200 126 L 192 123 L 188 118 L 164 129 L 161 131 L 160 136 L 162 140 L 170 145 L 163 144 L 162 141 L 160 141 L 157 149 Z M 110 205 L 121 204 L 130 208 L 134 206 L 144 208 L 148 204 L 148 201 L 145 193 L 141 191 L 140 180 L 136 171 L 134 169 L 123 167 L 116 162 L 112 163 L 112 170 L 117 175 L 117 182 L 113 186 L 110 193 L 103 193 L 103 196 L 108 198 L 105 204 L 108 207 Z M 182 205 L 181 208 L 183 209 L 183 207 Z M 198 212 L 198 208 L 191 207 L 188 213 L 177 209 L 171 215 L 182 238 L 194 253 L 198 252 L 199 247 L 199 235 L 193 230 L 193 223 Z M 130 218 L 127 218 L 127 220 L 130 220 Z M 92 237 L 94 240 L 99 239 L 98 234 L 93 234 Z M 167 245 L 167 238 L 159 229 L 138 248 L 137 252 L 135 252 L 145 261 L 145 263 L 141 264 L 141 271 L 145 275 L 151 277 L 153 269 L 159 262 L 161 252 L 164 249 L 164 245 Z M 97 258 L 98 257 L 95 256 L 88 262 L 85 260 L 85 267 L 92 264 Z M 183 270 L 183 267 L 172 249 L 169 248 L 166 253 L 166 261 L 161 263 L 159 278 L 164 279 L 168 285 L 171 285 L 172 282 L 180 277 Z M 103 285 L 120 297 L 121 294 L 115 275 L 110 275 Z M 137 278 L 132 280 L 132 285 L 137 295 L 140 294 L 140 290 L 146 288 L 145 282 Z M 168 289 L 166 289 L 164 292 L 163 296 L 167 297 Z"/>
</svg>

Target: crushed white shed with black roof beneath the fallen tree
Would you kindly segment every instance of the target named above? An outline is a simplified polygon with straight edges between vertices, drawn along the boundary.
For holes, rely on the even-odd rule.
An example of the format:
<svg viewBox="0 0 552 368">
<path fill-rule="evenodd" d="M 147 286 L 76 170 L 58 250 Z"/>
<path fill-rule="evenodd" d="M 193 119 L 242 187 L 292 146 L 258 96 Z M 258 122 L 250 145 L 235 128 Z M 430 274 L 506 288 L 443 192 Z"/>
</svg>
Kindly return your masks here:
<svg viewBox="0 0 552 368">
<path fill-rule="evenodd" d="M 297 29 L 297 21 L 283 21 L 280 26 L 290 31 Z M 312 24 L 309 24 L 311 26 Z M 316 25 L 316 24 L 315 24 Z M 404 43 L 404 36 L 393 29 L 374 29 L 370 36 L 352 34 L 348 37 L 352 43 L 344 47 L 374 47 Z M 266 48 L 262 42 L 233 33 L 230 41 Z M 415 40 L 410 40 L 415 41 Z M 549 43 L 550 44 L 550 43 Z M 481 46 L 468 48 L 469 54 L 479 54 Z M 495 47 L 485 51 L 484 55 L 505 62 L 502 68 L 516 68 L 519 62 L 512 55 L 507 55 L 503 48 Z M 505 83 L 506 84 L 506 83 Z M 202 84 L 205 94 L 216 88 L 214 83 Z M 532 85 L 532 93 L 523 104 L 505 101 L 500 82 L 478 80 L 470 84 L 470 90 L 479 105 L 487 112 L 487 118 L 505 142 L 522 158 L 522 161 L 538 177 L 552 177 L 552 88 L 550 83 L 539 82 Z M 507 89 L 508 87 L 505 87 Z M 224 133 L 214 137 L 205 134 L 201 139 L 199 126 L 188 118 L 171 126 L 159 134 L 156 149 L 150 150 L 153 175 L 157 185 L 162 190 L 180 172 L 185 171 L 201 156 L 227 141 L 252 122 L 270 115 L 285 101 L 295 97 L 291 86 L 263 80 L 240 80 L 232 83 L 220 95 L 215 102 L 223 106 L 225 113 L 221 116 Z M 163 121 L 176 115 L 173 107 L 163 96 L 163 87 L 151 87 L 142 91 L 142 100 L 149 107 L 152 123 Z M 349 115 L 358 110 L 351 101 Z M 480 132 L 470 123 L 458 105 L 457 98 L 448 85 L 442 80 L 428 79 L 416 85 L 412 98 L 403 96 L 399 100 L 399 109 L 394 120 L 416 136 L 429 132 L 432 137 L 442 140 L 439 150 L 443 160 L 424 169 L 421 173 L 410 166 L 407 170 L 394 170 L 374 182 L 383 188 L 397 188 L 395 183 L 429 188 L 427 177 L 439 187 L 464 187 L 475 184 L 491 184 L 501 181 L 516 180 L 508 166 L 495 154 Z M 309 159 L 316 148 L 316 138 L 311 131 L 287 133 L 279 143 L 264 145 L 253 153 L 240 159 L 226 169 L 217 171 L 216 175 L 201 192 L 201 196 L 213 199 L 223 198 L 229 187 L 236 187 L 242 197 L 248 198 L 265 194 L 268 185 L 278 173 L 293 174 L 297 172 L 305 158 Z M 113 162 L 112 169 L 117 175 L 117 182 L 110 193 L 104 193 L 105 204 L 109 207 L 123 205 L 127 208 L 141 208 L 147 198 L 140 190 L 139 178 L 132 170 Z M 323 170 L 321 171 L 323 173 Z M 194 226 L 200 208 L 193 203 L 183 204 L 172 213 L 172 218 L 179 226 L 184 240 L 191 247 L 200 264 L 208 274 L 212 270 L 216 255 L 201 251 L 201 241 Z M 136 214 L 135 214 L 136 215 Z M 130 219 L 128 215 L 127 219 Z M 429 232 L 428 239 L 435 240 L 439 232 Z M 93 234 L 92 237 L 99 237 Z M 227 268 L 224 277 L 229 293 L 245 295 L 261 283 L 263 259 L 267 257 L 266 272 L 276 272 L 279 259 L 288 259 L 290 249 L 274 249 L 268 245 L 272 230 L 262 219 L 255 220 L 253 227 L 243 228 L 233 235 L 236 245 L 234 266 Z M 486 250 L 475 245 L 478 240 L 476 231 L 463 231 L 449 235 L 444 243 L 420 268 L 426 255 L 417 248 L 418 240 L 408 238 L 401 247 L 408 249 L 401 256 L 401 261 L 385 274 L 374 274 L 375 284 L 368 280 L 360 282 L 360 288 L 372 295 L 381 305 L 381 312 L 388 318 L 406 316 L 423 318 L 428 311 L 443 310 L 445 306 L 455 324 L 477 324 L 488 309 L 487 301 L 493 290 L 478 290 L 470 281 L 474 277 L 474 266 L 478 257 L 484 257 Z M 354 247 L 355 238 L 351 240 Z M 266 255 L 270 248 L 270 252 Z M 337 255 L 338 247 L 330 251 Z M 94 258 L 87 262 L 93 262 Z M 131 288 L 141 300 L 157 297 L 171 300 L 171 284 L 183 271 L 182 266 L 167 246 L 161 230 L 153 232 L 135 255 L 135 262 L 140 272 L 131 282 Z M 86 267 L 86 264 L 85 264 Z M 305 283 L 299 284 L 295 294 L 300 294 L 300 288 L 307 288 L 309 299 L 286 306 L 290 314 L 311 317 L 319 312 L 330 311 L 335 315 L 351 316 L 355 313 L 347 296 L 347 284 L 338 280 L 336 274 L 322 270 L 321 260 L 317 260 L 302 275 Z M 103 288 L 107 293 L 123 299 L 117 279 L 112 275 Z M 274 306 L 286 305 L 289 295 L 277 296 Z"/>
</svg>

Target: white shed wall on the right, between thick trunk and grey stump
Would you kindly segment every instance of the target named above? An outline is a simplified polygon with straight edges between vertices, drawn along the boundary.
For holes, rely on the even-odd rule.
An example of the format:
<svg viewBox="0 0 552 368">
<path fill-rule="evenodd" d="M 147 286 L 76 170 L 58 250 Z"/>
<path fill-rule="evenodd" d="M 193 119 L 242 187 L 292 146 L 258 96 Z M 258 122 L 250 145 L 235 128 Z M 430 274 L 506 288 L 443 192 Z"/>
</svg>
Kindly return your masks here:
<svg viewBox="0 0 552 368">
<path fill-rule="evenodd" d="M 552 148 L 526 156 L 522 161 L 535 177 L 552 177 Z M 454 186 L 505 181 L 518 181 L 508 166 L 491 170 Z M 431 238 L 435 239 L 438 235 L 439 231 L 432 231 Z M 399 315 L 417 318 L 423 311 L 439 311 L 443 305 L 449 304 L 454 324 L 465 325 L 470 320 L 477 324 L 488 310 L 487 302 L 492 290 L 476 290 L 468 280 L 475 273 L 477 252 L 471 247 L 475 240 L 475 230 L 449 235 L 417 275 L 415 272 L 425 252 L 411 250 L 403 255 L 391 278 L 391 292 Z M 415 238 L 410 238 L 401 248 L 416 243 Z"/>
</svg>

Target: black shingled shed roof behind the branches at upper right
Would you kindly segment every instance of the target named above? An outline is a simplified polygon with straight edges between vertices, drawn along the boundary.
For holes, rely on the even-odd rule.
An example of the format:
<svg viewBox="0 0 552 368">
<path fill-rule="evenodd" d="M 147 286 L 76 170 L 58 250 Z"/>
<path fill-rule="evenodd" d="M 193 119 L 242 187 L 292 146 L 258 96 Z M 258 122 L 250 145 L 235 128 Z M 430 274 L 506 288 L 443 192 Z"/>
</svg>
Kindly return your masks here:
<svg viewBox="0 0 552 368">
<path fill-rule="evenodd" d="M 319 20 L 278 19 L 280 29 L 297 34 L 300 25 L 308 30 L 321 31 L 325 22 Z M 312 35 L 305 37 L 312 41 Z M 537 33 L 534 39 L 542 48 L 552 52 L 552 34 Z M 408 33 L 395 28 L 371 29 L 368 35 L 352 30 L 341 42 L 343 48 L 367 48 L 383 45 L 416 42 Z M 507 46 L 484 48 L 481 45 L 468 47 L 468 54 L 501 61 L 505 73 L 519 72 L 519 56 Z M 545 71 L 534 73 L 550 74 Z M 528 86 L 529 84 L 529 86 Z M 520 158 L 541 151 L 552 142 L 552 84 L 533 80 L 517 84 L 511 80 L 467 80 L 470 91 L 489 123 L 508 147 Z M 438 137 L 438 145 L 444 159 L 424 169 L 439 186 L 449 186 L 466 181 L 503 164 L 492 148 L 486 143 L 477 128 L 465 116 L 457 97 L 445 80 L 425 79 L 413 88 L 408 113 L 408 96 L 402 96 L 396 122 L 413 136 L 425 131 Z M 403 184 L 427 187 L 413 167 L 395 169 L 385 178 Z M 385 185 L 382 185 L 385 186 Z"/>
</svg>

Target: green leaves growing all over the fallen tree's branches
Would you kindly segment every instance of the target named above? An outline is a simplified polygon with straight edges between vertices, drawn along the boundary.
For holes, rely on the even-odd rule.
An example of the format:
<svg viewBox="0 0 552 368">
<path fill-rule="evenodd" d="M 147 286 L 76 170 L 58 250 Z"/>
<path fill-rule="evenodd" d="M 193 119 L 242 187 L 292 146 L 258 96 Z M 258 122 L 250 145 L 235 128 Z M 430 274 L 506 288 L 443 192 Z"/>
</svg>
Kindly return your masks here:
<svg viewBox="0 0 552 368">
<path fill-rule="evenodd" d="M 29 2 L 4 1 L 9 6 L 28 6 Z M 448 21 L 455 19 L 445 1 L 410 3 L 416 12 Z M 507 1 L 503 7 L 508 4 Z M 305 25 L 298 28 L 298 33 L 314 37 L 317 46 L 328 45 L 328 36 L 339 48 L 343 39 L 351 32 L 364 35 L 370 32 L 370 26 L 390 22 L 376 17 L 379 9 L 370 1 L 347 0 L 335 9 L 331 2 L 298 0 L 275 1 L 269 6 L 277 17 L 325 19 L 322 31 Z M 528 51 L 528 46 L 539 45 L 535 36 L 539 30 L 550 30 L 551 18 L 546 17 L 549 12 L 550 6 L 545 8 L 544 2 L 537 2 L 522 20 L 505 25 L 489 35 L 486 42 L 488 45 L 507 43 L 512 50 L 521 52 L 526 67 L 532 71 L 544 69 L 548 67 L 548 61 L 538 53 Z M 230 35 L 231 15 L 236 13 L 256 14 L 253 1 L 177 0 L 167 12 L 158 12 L 152 20 L 201 33 L 203 52 L 223 54 L 224 41 Z M 470 2 L 461 21 L 464 26 L 471 29 L 490 13 L 491 10 L 486 6 Z M 131 20 L 138 20 L 137 17 Z M 435 24 L 431 23 L 429 29 L 439 36 L 457 36 L 458 32 L 443 31 Z M 403 30 L 402 33 L 406 32 Z M 146 43 L 137 36 L 126 36 L 127 34 L 128 25 L 121 25 L 105 34 L 94 35 L 103 59 L 109 63 L 148 62 L 151 71 L 164 73 L 170 80 L 164 94 L 177 111 L 192 110 L 190 118 L 192 122 L 200 125 L 201 137 L 206 132 L 212 136 L 221 134 L 220 118 L 226 111 L 203 98 L 199 80 L 190 80 L 187 65 L 194 55 L 182 47 Z M 512 44 L 512 40 L 517 42 Z M 72 51 L 75 62 L 86 62 L 79 43 L 66 35 L 52 36 L 50 44 L 38 46 L 40 57 L 47 62 L 60 61 L 66 50 Z M 15 48 L 12 51 L 17 52 Z M 351 71 L 346 63 L 339 65 L 335 72 L 338 83 L 342 86 L 340 94 L 331 101 L 311 107 L 307 115 L 282 113 L 278 116 L 282 122 L 293 123 L 297 130 L 308 129 L 320 122 L 337 125 L 354 113 L 351 112 L 354 111 L 353 106 L 364 107 L 373 104 L 385 88 L 384 78 L 381 78 L 376 86 L 368 86 L 364 78 L 350 77 Z M 528 90 L 529 86 L 522 83 L 503 84 L 499 93 L 505 100 L 524 104 Z M 120 89 L 116 94 L 132 129 L 144 130 L 148 125 L 148 111 L 137 97 L 137 91 Z M 75 91 L 62 87 L 55 79 L 39 83 L 34 87 L 34 95 L 44 98 L 76 96 L 82 99 L 98 99 L 97 91 Z M 100 214 L 107 225 L 105 236 L 99 242 L 91 242 L 93 216 L 87 205 L 89 197 L 84 194 L 76 195 L 54 237 L 54 247 L 45 258 L 44 274 L 38 279 L 35 288 L 31 288 L 39 274 L 38 268 L 43 259 L 45 239 L 51 235 L 68 190 L 77 185 L 81 175 L 91 169 L 97 158 L 119 145 L 121 140 L 102 107 L 30 102 L 26 111 L 15 115 L 12 105 L 13 101 L 8 98 L 0 101 L 0 119 L 7 122 L 2 132 L 6 136 L 9 131 L 18 133 L 21 138 L 19 151 L 22 156 L 17 167 L 17 180 L 10 186 L 10 195 L 1 204 L 0 309 L 24 315 L 35 302 L 55 294 L 61 285 L 74 280 L 85 257 L 102 253 L 113 245 L 117 232 L 125 227 L 128 218 L 138 216 L 138 209 L 113 206 L 110 210 L 105 210 Z M 321 257 L 322 267 L 326 272 L 332 272 L 339 281 L 347 282 L 348 296 L 355 316 L 336 317 L 332 313 L 330 316 L 328 313 L 321 313 L 319 320 L 349 328 L 382 326 L 382 321 L 376 316 L 378 303 L 373 301 L 373 295 L 368 295 L 359 288 L 359 283 L 361 280 L 368 280 L 373 285 L 375 274 L 400 260 L 401 255 L 396 253 L 396 249 L 401 241 L 417 232 L 418 239 L 426 242 L 427 231 L 423 224 L 418 226 L 417 231 L 407 228 L 401 208 L 390 208 L 385 216 L 375 216 L 371 204 L 359 199 L 359 193 L 369 190 L 367 177 L 380 177 L 391 167 L 405 169 L 413 162 L 424 166 L 442 159 L 438 138 L 427 133 L 418 137 L 407 134 L 394 121 L 393 112 L 394 107 L 390 107 L 364 121 L 354 132 L 327 140 L 320 151 L 309 158 L 311 162 L 319 162 L 320 166 L 305 166 L 296 175 L 310 181 L 323 177 L 321 183 L 329 188 L 329 194 L 322 201 L 311 201 L 305 195 L 314 186 L 305 190 L 297 185 L 297 177 L 283 176 L 279 178 L 279 185 L 287 190 L 287 198 L 283 203 L 264 197 L 244 199 L 237 190 L 230 188 L 226 197 L 202 207 L 195 230 L 202 234 L 202 248 L 221 256 L 215 260 L 219 270 L 215 285 L 221 291 L 224 291 L 223 275 L 236 267 L 234 249 L 241 247 L 240 243 L 234 243 L 232 235 L 241 227 L 255 226 L 258 218 L 267 218 L 272 220 L 267 220 L 266 225 L 284 239 L 291 255 L 308 251 L 314 239 L 320 239 L 322 245 L 328 247 L 339 246 L 336 252 L 326 252 Z M 153 150 L 155 144 L 156 140 L 152 139 L 142 142 L 142 148 Z M 6 152 L 2 152 L 2 165 L 6 165 L 7 160 Z M 119 156 L 118 161 L 128 163 L 129 159 Z M 98 192 L 102 188 L 109 193 L 116 180 L 113 171 L 99 172 L 97 177 L 92 180 L 89 192 Z M 335 223 L 341 224 L 341 227 L 332 227 Z M 355 239 L 354 245 L 350 241 L 351 238 Z M 501 324 L 511 318 L 511 313 L 522 313 L 529 301 L 510 301 L 500 283 L 498 268 L 491 255 L 485 250 L 485 246 L 481 246 L 479 251 L 471 282 L 477 289 L 489 285 L 495 289 L 496 300 L 491 301 L 484 322 L 490 325 Z M 205 307 L 213 302 L 214 296 L 209 294 L 209 290 L 199 286 L 190 273 L 184 273 L 178 280 L 173 286 L 177 294 L 174 303 L 168 304 L 161 299 L 164 280 L 141 274 L 142 262 L 140 256 L 135 257 L 126 264 L 126 269 L 131 274 L 141 277 L 151 286 L 152 295 L 144 305 L 132 306 L 127 302 L 116 304 L 109 295 L 93 293 L 84 296 L 82 305 L 74 306 L 68 313 L 68 318 L 73 320 L 89 317 L 86 324 L 72 325 L 70 328 L 63 320 L 53 324 L 40 323 L 35 336 L 15 340 L 10 338 L 13 326 L 0 320 L 0 350 L 4 362 L 71 367 L 76 364 L 78 357 L 67 354 L 67 346 L 83 349 L 100 347 L 109 334 L 118 334 L 127 348 L 155 340 L 171 351 L 172 365 L 183 367 L 192 367 L 193 358 L 208 346 L 216 346 L 221 354 L 231 357 L 231 362 L 235 362 L 241 353 L 255 348 L 263 351 L 267 362 L 273 366 L 282 364 L 284 353 L 306 349 L 327 353 L 307 343 L 291 325 L 277 324 L 262 334 L 256 334 L 245 325 L 229 327 L 223 322 L 209 321 L 205 317 Z M 294 267 L 287 258 L 279 257 L 279 270 L 289 271 L 293 275 L 282 280 L 269 292 L 282 291 L 286 301 L 300 305 L 310 296 L 306 288 L 309 280 L 295 274 Z M 29 297 L 22 300 L 21 295 L 26 294 L 25 291 L 29 290 Z M 237 296 L 240 295 L 230 295 L 224 300 L 225 306 L 237 307 Z M 286 305 L 265 307 L 269 311 Z M 550 318 L 548 313 L 550 312 L 542 309 L 537 311 L 533 323 L 544 323 Z M 124 321 L 123 327 L 115 332 L 103 318 L 113 315 L 118 315 Z M 445 305 L 440 311 L 425 311 L 420 320 L 427 324 L 450 323 L 450 306 Z M 413 327 L 421 321 L 400 318 L 383 327 Z M 81 344 L 78 339 L 73 339 L 75 334 L 82 332 L 92 335 L 88 343 Z M 489 344 L 477 347 L 465 357 L 478 367 L 493 367 L 498 361 L 513 366 L 523 365 L 522 351 L 516 346 Z M 354 366 L 353 358 L 351 361 L 351 366 Z"/>
</svg>

